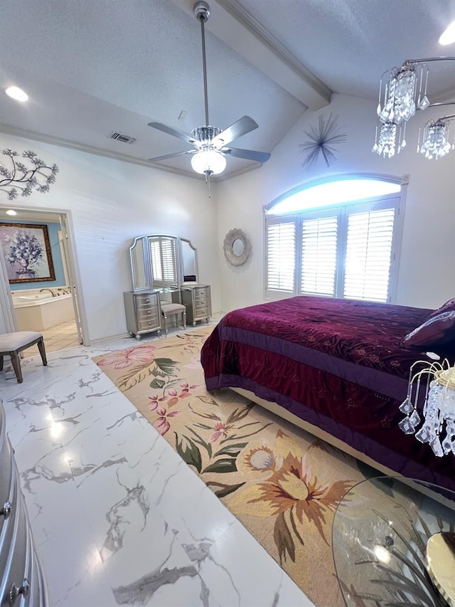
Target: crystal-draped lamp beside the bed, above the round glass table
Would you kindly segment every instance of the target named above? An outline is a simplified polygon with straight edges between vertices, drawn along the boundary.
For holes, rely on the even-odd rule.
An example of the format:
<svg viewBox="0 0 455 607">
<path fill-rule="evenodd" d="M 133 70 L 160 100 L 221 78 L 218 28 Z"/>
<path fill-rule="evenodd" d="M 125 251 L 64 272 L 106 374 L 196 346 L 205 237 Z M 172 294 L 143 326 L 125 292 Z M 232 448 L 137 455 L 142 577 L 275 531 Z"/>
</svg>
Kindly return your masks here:
<svg viewBox="0 0 455 607">
<path fill-rule="evenodd" d="M 418 361 L 411 367 L 407 396 L 400 405 L 400 411 L 406 417 L 398 426 L 405 434 L 415 433 L 415 438 L 421 443 L 429 443 L 438 457 L 450 452 L 455 455 L 455 367 L 444 360 L 442 363 L 434 362 L 427 369 L 414 374 L 414 366 L 422 362 Z M 425 378 L 423 392 L 422 378 Z M 423 420 L 417 411 L 422 394 Z M 422 427 L 417 431 L 417 426 L 422 421 Z M 444 429 L 445 436 L 441 441 Z"/>
</svg>

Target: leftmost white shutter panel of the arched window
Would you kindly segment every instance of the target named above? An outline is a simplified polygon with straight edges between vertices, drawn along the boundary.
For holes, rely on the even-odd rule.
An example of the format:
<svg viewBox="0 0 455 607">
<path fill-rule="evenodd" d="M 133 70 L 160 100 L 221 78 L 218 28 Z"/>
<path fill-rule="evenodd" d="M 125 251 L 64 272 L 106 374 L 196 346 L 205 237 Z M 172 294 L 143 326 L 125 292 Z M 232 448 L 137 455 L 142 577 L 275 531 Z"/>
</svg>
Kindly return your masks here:
<svg viewBox="0 0 455 607">
<path fill-rule="evenodd" d="M 266 289 L 294 293 L 296 221 L 267 220 Z"/>
</svg>

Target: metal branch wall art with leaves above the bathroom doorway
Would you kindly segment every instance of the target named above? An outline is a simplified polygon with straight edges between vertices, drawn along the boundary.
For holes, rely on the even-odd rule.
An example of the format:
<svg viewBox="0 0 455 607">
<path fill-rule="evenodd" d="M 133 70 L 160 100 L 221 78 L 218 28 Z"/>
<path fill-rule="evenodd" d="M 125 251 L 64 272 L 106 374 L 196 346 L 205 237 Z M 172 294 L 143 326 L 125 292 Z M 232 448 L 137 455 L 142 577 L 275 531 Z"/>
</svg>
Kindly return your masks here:
<svg viewBox="0 0 455 607">
<path fill-rule="evenodd" d="M 9 167 L 0 162 L 0 191 L 6 192 L 9 200 L 16 199 L 19 192 L 21 196 L 30 196 L 33 188 L 38 192 L 49 191 L 49 186 L 55 182 L 55 175 L 58 173 L 56 164 L 48 167 L 35 152 L 28 150 L 22 154 L 31 164 L 31 167 L 26 167 L 26 164 L 15 159 L 19 155 L 18 152 L 4 149 L 3 153 L 9 157 Z"/>
</svg>

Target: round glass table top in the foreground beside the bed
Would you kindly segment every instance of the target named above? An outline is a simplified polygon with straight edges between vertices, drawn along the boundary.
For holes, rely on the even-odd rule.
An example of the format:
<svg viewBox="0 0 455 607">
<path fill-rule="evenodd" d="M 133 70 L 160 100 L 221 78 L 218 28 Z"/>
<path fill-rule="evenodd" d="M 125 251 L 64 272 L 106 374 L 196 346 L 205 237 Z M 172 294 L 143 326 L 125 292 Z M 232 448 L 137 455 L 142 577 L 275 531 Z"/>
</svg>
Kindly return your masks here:
<svg viewBox="0 0 455 607">
<path fill-rule="evenodd" d="M 428 539 L 438 532 L 455 532 L 455 492 L 412 482 L 418 490 L 400 477 L 364 480 L 339 503 L 332 549 L 347 606 L 455 605 L 441 596 L 446 591 L 433 581 L 434 571 L 430 576 L 426 561 Z"/>
</svg>

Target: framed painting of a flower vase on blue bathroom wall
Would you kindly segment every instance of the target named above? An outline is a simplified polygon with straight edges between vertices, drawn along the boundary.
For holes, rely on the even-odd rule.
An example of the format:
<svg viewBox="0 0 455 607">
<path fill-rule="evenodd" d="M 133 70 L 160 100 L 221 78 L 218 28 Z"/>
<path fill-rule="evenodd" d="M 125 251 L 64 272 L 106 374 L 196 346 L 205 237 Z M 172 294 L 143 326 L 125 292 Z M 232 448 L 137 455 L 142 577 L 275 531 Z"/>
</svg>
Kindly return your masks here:
<svg viewBox="0 0 455 607">
<path fill-rule="evenodd" d="M 11 284 L 55 280 L 48 226 L 0 223 L 0 244 Z"/>
</svg>

